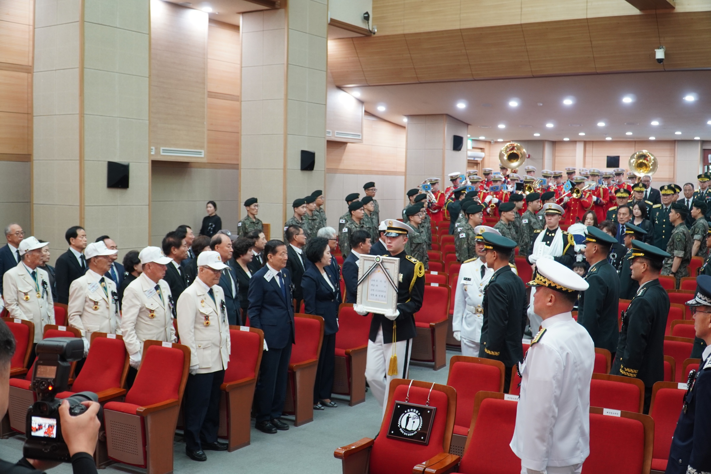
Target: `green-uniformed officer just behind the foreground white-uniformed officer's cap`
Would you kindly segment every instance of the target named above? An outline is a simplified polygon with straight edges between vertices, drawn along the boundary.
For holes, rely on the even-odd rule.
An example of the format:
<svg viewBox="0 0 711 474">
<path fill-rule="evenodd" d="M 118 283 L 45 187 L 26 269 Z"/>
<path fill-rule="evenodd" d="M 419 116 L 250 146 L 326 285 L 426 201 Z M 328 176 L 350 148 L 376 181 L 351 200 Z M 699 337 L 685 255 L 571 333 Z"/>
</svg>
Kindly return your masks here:
<svg viewBox="0 0 711 474">
<path fill-rule="evenodd" d="M 614 353 L 617 349 L 619 326 L 619 277 L 614 266 L 607 261 L 610 247 L 617 239 L 597 227 L 587 227 L 585 259 L 590 268 L 585 275 L 589 288 L 580 293 L 578 318 L 592 338 L 596 348 Z"/>
</svg>

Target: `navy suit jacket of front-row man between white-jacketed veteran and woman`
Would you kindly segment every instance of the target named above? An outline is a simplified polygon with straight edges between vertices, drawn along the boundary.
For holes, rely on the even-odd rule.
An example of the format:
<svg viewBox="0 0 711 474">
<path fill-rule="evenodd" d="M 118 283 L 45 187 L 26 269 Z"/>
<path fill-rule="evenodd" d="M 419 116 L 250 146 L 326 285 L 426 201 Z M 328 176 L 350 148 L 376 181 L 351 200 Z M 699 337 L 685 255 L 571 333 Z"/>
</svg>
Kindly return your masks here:
<svg viewBox="0 0 711 474">
<path fill-rule="evenodd" d="M 250 325 L 264 331 L 267 348 L 283 349 L 294 343 L 294 305 L 292 304 L 292 277 L 289 270 L 282 269 L 282 281 L 286 283 L 287 300 L 274 278 L 267 281 L 264 275 L 269 267 L 264 265 L 250 280 L 247 298 L 250 307 Z"/>
</svg>

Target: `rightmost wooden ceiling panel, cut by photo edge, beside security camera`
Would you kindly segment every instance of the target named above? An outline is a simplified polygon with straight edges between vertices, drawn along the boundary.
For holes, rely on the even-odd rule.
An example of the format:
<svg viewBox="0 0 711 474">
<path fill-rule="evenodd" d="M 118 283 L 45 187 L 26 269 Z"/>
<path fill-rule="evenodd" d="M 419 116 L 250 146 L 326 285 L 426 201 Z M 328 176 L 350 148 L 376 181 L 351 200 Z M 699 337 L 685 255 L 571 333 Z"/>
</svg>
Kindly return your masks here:
<svg viewBox="0 0 711 474">
<path fill-rule="evenodd" d="M 711 68 L 711 11 L 660 13 L 657 18 L 661 44 L 669 52 L 665 70 Z"/>
</svg>

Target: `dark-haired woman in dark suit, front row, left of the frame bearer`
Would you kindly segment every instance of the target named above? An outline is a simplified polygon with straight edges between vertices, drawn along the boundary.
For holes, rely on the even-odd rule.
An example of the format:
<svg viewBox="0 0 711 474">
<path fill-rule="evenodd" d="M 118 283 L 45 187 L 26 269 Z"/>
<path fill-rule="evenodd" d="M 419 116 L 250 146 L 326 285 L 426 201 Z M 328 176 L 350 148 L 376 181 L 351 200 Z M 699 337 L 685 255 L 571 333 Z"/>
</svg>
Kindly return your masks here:
<svg viewBox="0 0 711 474">
<path fill-rule="evenodd" d="M 312 238 L 306 244 L 306 258 L 309 265 L 301 279 L 304 290 L 304 311 L 324 318 L 324 343 L 321 344 L 319 367 L 316 370 L 314 384 L 314 409 L 323 410 L 324 406 L 338 406 L 331 400 L 333 387 L 333 367 L 336 360 L 336 333 L 338 332 L 338 305 L 341 293 L 338 291 L 338 277 L 331 268 L 331 249 L 328 239 Z"/>
</svg>

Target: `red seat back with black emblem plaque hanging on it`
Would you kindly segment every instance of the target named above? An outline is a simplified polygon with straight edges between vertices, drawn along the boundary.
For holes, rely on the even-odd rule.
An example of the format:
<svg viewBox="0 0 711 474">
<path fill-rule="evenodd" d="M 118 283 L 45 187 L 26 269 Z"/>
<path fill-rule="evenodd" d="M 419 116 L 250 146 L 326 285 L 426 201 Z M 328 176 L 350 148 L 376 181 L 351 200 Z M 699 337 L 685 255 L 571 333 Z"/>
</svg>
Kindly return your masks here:
<svg viewBox="0 0 711 474">
<path fill-rule="evenodd" d="M 405 401 L 407 397 L 407 384 L 395 387 L 392 400 Z M 429 443 L 427 445 L 400 441 L 387 437 L 387 429 L 390 423 L 387 421 L 380 426 L 378 438 L 375 438 L 372 451 L 370 451 L 369 474 L 411 474 L 412 466 L 422 463 L 424 460 L 432 458 L 435 454 L 442 452 L 444 442 L 444 431 L 447 426 L 447 394 L 435 389 L 429 393 L 429 389 L 423 387 L 410 387 L 410 403 L 424 405 L 429 397 L 429 406 L 436 406 L 432 429 L 429 431 Z M 390 420 L 393 405 L 387 407 L 385 420 Z"/>
</svg>

